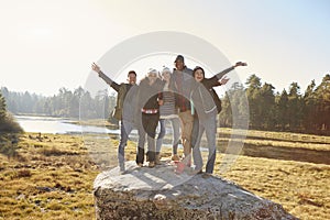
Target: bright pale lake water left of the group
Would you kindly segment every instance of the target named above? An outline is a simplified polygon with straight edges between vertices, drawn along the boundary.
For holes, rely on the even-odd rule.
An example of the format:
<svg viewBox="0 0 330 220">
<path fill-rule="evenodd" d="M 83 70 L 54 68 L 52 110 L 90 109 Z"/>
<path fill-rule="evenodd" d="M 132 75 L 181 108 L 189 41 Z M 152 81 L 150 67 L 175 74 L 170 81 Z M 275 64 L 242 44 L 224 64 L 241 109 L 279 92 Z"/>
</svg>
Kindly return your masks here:
<svg viewBox="0 0 330 220">
<path fill-rule="evenodd" d="M 41 133 L 113 133 L 118 134 L 119 130 L 110 130 L 102 127 L 73 124 L 70 120 L 53 117 L 30 117 L 15 116 L 16 121 L 25 132 Z"/>
</svg>

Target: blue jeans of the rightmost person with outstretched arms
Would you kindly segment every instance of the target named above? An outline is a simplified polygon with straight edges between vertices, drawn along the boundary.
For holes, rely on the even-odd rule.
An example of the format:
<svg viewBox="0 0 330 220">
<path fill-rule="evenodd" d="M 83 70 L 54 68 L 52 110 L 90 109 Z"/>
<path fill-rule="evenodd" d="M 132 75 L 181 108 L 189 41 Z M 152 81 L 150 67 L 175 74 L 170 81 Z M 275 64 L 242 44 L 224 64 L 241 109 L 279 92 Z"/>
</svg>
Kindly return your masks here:
<svg viewBox="0 0 330 220">
<path fill-rule="evenodd" d="M 216 148 L 216 135 L 217 135 L 217 113 L 212 112 L 208 117 L 199 120 L 194 119 L 191 143 L 193 143 L 193 158 L 195 163 L 195 169 L 202 169 L 202 157 L 200 153 L 200 141 L 202 133 L 206 132 L 208 142 L 209 155 L 206 165 L 206 173 L 212 174 L 215 168 L 217 148 Z"/>
</svg>

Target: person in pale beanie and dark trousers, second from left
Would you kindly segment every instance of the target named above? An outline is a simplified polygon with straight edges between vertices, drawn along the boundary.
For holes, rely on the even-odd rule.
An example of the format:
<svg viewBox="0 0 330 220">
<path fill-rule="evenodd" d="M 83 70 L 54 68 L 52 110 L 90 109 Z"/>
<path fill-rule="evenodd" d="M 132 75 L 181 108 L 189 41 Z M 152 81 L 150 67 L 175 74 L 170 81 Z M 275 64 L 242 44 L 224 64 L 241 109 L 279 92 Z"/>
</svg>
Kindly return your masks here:
<svg viewBox="0 0 330 220">
<path fill-rule="evenodd" d="M 155 166 L 156 146 L 155 135 L 160 121 L 160 105 L 163 105 L 162 80 L 156 69 L 148 69 L 147 76 L 140 81 L 138 92 L 138 124 L 139 143 L 136 152 L 136 164 L 143 166 L 145 136 L 147 136 L 147 161 L 148 167 Z"/>
</svg>

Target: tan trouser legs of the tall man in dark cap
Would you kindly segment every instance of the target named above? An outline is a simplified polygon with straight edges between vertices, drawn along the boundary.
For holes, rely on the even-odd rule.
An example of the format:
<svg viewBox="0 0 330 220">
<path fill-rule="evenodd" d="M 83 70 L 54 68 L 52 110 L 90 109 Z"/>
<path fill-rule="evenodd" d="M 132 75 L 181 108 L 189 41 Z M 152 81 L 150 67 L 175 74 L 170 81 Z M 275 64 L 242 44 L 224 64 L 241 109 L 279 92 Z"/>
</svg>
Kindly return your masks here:
<svg viewBox="0 0 330 220">
<path fill-rule="evenodd" d="M 179 118 L 182 120 L 182 139 L 184 145 L 184 154 L 185 154 L 185 164 L 188 166 L 191 165 L 191 131 L 194 117 L 191 116 L 191 111 L 185 111 L 179 113 Z"/>
</svg>

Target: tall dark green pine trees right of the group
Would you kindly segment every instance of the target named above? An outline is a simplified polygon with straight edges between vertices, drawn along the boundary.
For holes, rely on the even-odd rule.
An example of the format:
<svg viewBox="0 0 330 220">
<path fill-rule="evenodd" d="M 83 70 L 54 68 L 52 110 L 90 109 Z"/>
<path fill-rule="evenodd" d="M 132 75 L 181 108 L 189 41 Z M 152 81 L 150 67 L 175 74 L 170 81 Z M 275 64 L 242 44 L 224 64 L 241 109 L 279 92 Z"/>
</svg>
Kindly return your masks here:
<svg viewBox="0 0 330 220">
<path fill-rule="evenodd" d="M 222 127 L 240 127 L 235 123 L 248 117 L 250 129 L 330 134 L 329 74 L 318 86 L 311 80 L 304 94 L 297 82 L 292 82 L 288 90 L 275 94 L 275 87 L 272 84 L 262 84 L 256 75 L 251 75 L 245 86 L 246 88 L 234 84 L 222 99 L 222 111 L 219 116 Z M 244 96 L 249 112 L 248 105 L 242 105 Z M 234 114 L 239 117 L 235 121 Z"/>
</svg>

